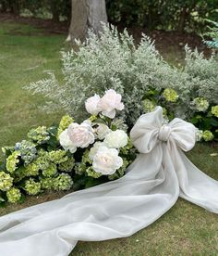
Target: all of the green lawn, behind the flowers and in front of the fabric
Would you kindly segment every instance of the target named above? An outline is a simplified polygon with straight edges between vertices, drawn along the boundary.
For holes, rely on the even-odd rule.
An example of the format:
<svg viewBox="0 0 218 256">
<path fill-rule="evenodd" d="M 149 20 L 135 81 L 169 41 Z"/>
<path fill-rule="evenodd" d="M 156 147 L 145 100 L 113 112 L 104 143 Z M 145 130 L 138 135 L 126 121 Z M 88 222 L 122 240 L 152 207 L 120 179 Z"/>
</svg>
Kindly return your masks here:
<svg viewBox="0 0 218 256">
<path fill-rule="evenodd" d="M 59 72 L 59 51 L 66 35 L 43 33 L 30 25 L 0 25 L 0 147 L 25 138 L 30 127 L 58 122 L 62 113 L 47 114 L 38 108 L 41 96 L 30 96 L 22 86 L 41 79 L 44 70 Z M 170 59 L 174 61 L 170 54 Z M 201 170 L 218 180 L 217 145 L 197 145 L 188 153 Z M 64 193 L 28 198 L 24 204 L 8 205 L 0 215 L 60 198 Z M 72 255 L 218 255 L 218 217 L 183 199 L 156 223 L 132 237 L 103 242 L 79 242 Z M 3 256 L 3 255 L 2 255 Z"/>
</svg>

